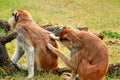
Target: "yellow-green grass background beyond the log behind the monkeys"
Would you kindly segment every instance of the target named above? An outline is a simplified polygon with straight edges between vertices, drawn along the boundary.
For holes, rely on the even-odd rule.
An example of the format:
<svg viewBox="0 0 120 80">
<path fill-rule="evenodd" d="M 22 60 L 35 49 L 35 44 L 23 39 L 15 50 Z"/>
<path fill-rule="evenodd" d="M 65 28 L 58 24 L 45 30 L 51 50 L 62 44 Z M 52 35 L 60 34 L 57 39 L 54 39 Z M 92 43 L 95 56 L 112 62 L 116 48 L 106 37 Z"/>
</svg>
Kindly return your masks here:
<svg viewBox="0 0 120 80">
<path fill-rule="evenodd" d="M 0 0 L 0 16 L 8 19 L 13 10 L 26 9 L 39 24 L 119 31 L 119 7 L 120 0 Z"/>
</svg>

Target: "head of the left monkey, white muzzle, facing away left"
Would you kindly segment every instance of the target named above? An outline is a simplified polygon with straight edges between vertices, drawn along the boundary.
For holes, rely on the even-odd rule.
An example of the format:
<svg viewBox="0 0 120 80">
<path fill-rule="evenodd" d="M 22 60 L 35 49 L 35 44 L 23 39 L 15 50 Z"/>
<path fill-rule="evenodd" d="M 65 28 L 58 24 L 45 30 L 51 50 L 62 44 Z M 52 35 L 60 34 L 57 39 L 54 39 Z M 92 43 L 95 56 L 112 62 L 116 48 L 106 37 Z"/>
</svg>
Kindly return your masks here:
<svg viewBox="0 0 120 80">
<path fill-rule="evenodd" d="M 12 13 L 8 23 L 12 29 L 15 29 L 17 23 L 21 21 L 32 20 L 30 13 L 26 10 L 16 10 Z"/>
</svg>

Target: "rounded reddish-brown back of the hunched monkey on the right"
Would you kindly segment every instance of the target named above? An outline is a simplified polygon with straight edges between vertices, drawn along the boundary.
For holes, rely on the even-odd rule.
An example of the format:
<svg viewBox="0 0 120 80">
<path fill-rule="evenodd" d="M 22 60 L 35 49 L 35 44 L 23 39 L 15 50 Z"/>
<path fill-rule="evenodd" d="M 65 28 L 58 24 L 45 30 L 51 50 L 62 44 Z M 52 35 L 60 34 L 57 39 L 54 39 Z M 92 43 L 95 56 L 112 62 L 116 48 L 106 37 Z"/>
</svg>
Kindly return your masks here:
<svg viewBox="0 0 120 80">
<path fill-rule="evenodd" d="M 87 58 L 90 65 L 96 65 L 97 69 L 96 72 L 87 75 L 85 80 L 102 80 L 108 70 L 109 62 L 106 46 L 101 39 L 91 32 L 80 32 L 79 37 L 82 39 L 83 43 L 80 54 Z"/>
</svg>

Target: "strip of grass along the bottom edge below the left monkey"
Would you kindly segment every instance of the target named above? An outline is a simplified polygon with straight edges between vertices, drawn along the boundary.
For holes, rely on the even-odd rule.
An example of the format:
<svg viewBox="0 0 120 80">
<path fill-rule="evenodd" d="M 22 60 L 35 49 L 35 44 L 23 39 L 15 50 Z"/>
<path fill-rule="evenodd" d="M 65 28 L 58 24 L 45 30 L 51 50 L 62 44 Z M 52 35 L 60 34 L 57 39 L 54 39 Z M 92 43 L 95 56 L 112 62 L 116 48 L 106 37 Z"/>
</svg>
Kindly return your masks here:
<svg viewBox="0 0 120 80">
<path fill-rule="evenodd" d="M 26 80 L 25 77 L 27 76 L 27 72 L 26 71 L 21 71 L 18 73 L 14 73 L 15 75 L 12 76 L 8 76 L 6 74 L 1 74 L 0 75 L 0 79 L 2 77 L 4 77 L 5 80 Z M 10 77 L 9 79 L 7 79 L 7 77 Z M 55 74 L 51 74 L 51 73 L 47 73 L 47 72 L 42 72 L 42 71 L 38 71 L 35 72 L 35 76 L 34 79 L 30 79 L 30 80 L 64 80 L 62 78 L 60 78 L 58 75 Z"/>
</svg>

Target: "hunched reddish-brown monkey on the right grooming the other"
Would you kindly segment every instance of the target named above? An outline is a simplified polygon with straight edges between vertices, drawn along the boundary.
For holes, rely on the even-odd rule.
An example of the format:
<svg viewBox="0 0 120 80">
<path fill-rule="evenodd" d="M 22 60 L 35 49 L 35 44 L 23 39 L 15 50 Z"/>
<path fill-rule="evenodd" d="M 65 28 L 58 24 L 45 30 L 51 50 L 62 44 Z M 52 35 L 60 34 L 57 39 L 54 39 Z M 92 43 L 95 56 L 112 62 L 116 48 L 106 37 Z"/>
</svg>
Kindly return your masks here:
<svg viewBox="0 0 120 80">
<path fill-rule="evenodd" d="M 53 40 L 60 41 L 70 50 L 70 59 L 62 51 L 47 44 L 48 49 L 60 57 L 72 69 L 72 80 L 102 80 L 108 70 L 108 50 L 102 40 L 89 31 L 65 28 L 59 33 L 49 35 Z"/>
</svg>

